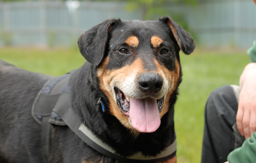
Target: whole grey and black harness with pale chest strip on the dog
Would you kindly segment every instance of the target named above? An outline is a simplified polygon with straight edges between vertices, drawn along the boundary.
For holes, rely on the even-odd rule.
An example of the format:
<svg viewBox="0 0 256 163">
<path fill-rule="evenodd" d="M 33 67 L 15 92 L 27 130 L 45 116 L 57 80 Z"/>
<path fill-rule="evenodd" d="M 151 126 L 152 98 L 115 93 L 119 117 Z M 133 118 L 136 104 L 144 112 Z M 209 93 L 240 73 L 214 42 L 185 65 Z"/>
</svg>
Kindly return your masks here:
<svg viewBox="0 0 256 163">
<path fill-rule="evenodd" d="M 50 162 L 50 147 L 52 124 L 59 126 L 68 126 L 78 137 L 80 137 L 88 146 L 100 152 L 101 154 L 113 159 L 127 163 L 153 163 L 165 161 L 175 156 L 177 140 L 165 148 L 156 156 L 144 156 L 142 152 L 128 157 L 124 157 L 116 152 L 111 146 L 103 142 L 98 136 L 86 127 L 80 117 L 71 107 L 69 79 L 71 73 L 50 79 L 37 94 L 32 106 L 32 116 L 41 126 L 42 144 L 45 156 L 45 162 Z M 104 108 L 103 103 L 102 108 Z"/>
</svg>

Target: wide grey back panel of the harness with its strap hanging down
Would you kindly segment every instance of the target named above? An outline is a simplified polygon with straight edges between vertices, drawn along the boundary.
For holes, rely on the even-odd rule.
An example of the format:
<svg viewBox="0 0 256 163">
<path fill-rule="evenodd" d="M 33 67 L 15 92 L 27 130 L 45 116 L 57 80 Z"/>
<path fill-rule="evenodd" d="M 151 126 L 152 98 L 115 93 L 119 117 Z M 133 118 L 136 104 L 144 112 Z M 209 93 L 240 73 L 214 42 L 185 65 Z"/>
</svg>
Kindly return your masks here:
<svg viewBox="0 0 256 163">
<path fill-rule="evenodd" d="M 32 105 L 32 116 L 36 122 L 41 125 L 42 148 L 45 156 L 45 162 L 50 162 L 50 147 L 52 138 L 52 124 L 66 125 L 57 114 L 52 112 L 56 101 L 63 91 L 63 86 L 68 84 L 70 74 L 62 75 L 58 78 L 48 80 Z M 55 115 L 55 116 L 54 116 Z"/>
</svg>

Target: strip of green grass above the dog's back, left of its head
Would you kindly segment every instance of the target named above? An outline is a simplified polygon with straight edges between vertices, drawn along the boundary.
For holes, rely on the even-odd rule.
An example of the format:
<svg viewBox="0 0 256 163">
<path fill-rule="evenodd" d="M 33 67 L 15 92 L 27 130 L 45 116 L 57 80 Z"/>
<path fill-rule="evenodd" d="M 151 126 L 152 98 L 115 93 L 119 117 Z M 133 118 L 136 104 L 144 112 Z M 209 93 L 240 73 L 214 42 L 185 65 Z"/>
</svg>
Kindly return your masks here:
<svg viewBox="0 0 256 163">
<path fill-rule="evenodd" d="M 2 48 L 0 59 L 10 64 L 33 72 L 60 76 L 77 69 L 85 59 L 78 48 L 37 49 L 37 48 Z"/>
</svg>

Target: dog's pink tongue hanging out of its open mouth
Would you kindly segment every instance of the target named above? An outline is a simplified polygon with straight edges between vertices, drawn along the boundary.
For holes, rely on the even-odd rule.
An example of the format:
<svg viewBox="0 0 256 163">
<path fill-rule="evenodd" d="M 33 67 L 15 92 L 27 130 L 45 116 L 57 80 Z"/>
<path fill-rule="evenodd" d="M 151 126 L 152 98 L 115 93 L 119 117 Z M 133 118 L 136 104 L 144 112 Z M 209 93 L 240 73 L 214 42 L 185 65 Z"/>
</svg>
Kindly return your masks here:
<svg viewBox="0 0 256 163">
<path fill-rule="evenodd" d="M 156 99 L 133 99 L 130 97 L 129 117 L 139 132 L 155 132 L 160 126 L 161 119 Z"/>
</svg>

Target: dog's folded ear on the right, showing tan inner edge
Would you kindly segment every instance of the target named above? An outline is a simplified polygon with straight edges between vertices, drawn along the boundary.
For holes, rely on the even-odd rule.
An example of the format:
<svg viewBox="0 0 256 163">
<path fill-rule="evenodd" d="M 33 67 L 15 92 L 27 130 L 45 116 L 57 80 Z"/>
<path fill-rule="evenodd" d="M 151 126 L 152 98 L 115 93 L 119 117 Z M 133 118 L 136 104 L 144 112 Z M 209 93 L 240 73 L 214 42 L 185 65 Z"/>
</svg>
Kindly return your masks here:
<svg viewBox="0 0 256 163">
<path fill-rule="evenodd" d="M 191 54 L 194 51 L 196 47 L 194 39 L 185 29 L 168 16 L 164 16 L 158 21 L 162 21 L 170 27 L 178 46 L 185 54 Z"/>
</svg>

